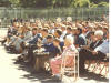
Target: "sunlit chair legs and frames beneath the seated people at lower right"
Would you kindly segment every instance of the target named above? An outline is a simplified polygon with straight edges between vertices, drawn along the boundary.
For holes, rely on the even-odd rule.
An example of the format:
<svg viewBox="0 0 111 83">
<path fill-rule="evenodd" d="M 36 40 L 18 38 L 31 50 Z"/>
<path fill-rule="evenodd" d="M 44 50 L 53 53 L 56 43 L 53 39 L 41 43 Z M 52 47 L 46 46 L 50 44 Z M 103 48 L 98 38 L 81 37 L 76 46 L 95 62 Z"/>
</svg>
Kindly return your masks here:
<svg viewBox="0 0 111 83">
<path fill-rule="evenodd" d="M 107 55 L 103 60 L 87 60 L 85 68 L 90 72 L 94 72 L 107 77 L 109 74 L 109 55 Z"/>
</svg>

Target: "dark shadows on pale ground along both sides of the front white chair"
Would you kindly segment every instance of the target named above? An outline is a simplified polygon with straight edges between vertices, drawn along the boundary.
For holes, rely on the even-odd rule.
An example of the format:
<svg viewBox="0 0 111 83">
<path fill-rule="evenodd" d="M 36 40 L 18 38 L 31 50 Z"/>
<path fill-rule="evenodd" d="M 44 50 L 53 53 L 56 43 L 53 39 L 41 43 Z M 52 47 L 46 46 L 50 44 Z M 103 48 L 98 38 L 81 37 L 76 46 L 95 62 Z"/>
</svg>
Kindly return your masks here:
<svg viewBox="0 0 111 83">
<path fill-rule="evenodd" d="M 41 83 L 59 83 L 60 80 L 51 77 L 51 74 L 49 74 L 46 71 L 40 71 L 40 72 L 34 72 L 32 69 L 32 65 L 29 65 L 28 63 L 24 62 L 14 62 L 14 64 L 19 64 L 18 70 L 23 70 L 29 72 L 29 74 L 24 74 L 21 76 L 21 79 L 28 79 L 33 81 L 41 81 Z M 105 82 L 108 83 L 109 80 L 103 77 L 102 75 L 87 72 L 84 75 L 80 75 L 81 79 L 88 81 L 88 80 L 94 80 L 97 82 Z"/>
</svg>

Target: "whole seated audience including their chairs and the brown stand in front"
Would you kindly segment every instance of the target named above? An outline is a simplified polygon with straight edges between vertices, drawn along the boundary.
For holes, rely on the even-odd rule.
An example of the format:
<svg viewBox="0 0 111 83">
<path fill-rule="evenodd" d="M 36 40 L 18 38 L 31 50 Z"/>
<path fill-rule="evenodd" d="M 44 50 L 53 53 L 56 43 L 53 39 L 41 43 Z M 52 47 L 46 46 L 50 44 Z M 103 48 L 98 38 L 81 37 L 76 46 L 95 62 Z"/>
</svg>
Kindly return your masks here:
<svg viewBox="0 0 111 83">
<path fill-rule="evenodd" d="M 103 20 L 13 19 L 0 42 L 7 51 L 20 54 L 17 62 L 61 80 L 67 75 L 77 81 L 85 71 L 109 74 L 109 23 Z"/>
</svg>

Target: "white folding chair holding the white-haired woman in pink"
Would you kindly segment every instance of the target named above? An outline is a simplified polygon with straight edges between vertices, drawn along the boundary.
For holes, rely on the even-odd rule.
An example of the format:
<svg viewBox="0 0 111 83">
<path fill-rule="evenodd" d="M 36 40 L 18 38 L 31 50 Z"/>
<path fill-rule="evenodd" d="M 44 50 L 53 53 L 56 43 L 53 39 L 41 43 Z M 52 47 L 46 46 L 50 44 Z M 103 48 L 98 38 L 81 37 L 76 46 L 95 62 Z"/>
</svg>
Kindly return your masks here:
<svg viewBox="0 0 111 83">
<path fill-rule="evenodd" d="M 68 60 L 72 62 L 70 65 L 67 65 Z M 64 55 L 62 58 L 61 80 L 63 79 L 63 75 L 67 74 L 74 74 L 74 81 L 79 79 L 79 53 L 68 55 L 68 58 Z"/>
</svg>

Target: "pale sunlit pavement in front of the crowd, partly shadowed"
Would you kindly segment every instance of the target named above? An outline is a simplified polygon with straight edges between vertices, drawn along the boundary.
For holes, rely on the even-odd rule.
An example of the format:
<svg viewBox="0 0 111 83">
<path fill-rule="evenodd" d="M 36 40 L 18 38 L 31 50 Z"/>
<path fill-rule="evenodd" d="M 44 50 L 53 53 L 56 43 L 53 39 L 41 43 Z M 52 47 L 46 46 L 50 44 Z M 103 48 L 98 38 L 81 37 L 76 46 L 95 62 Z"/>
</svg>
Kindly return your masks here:
<svg viewBox="0 0 111 83">
<path fill-rule="evenodd" d="M 3 35 L 4 32 L 0 31 L 0 35 Z M 10 54 L 0 45 L 0 83 L 60 83 L 44 72 L 31 73 L 33 70 L 28 64 L 16 63 L 17 56 L 18 54 Z M 72 79 L 64 77 L 64 83 L 74 82 Z M 108 83 L 108 79 L 88 73 L 80 76 L 77 83 Z"/>
</svg>

